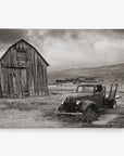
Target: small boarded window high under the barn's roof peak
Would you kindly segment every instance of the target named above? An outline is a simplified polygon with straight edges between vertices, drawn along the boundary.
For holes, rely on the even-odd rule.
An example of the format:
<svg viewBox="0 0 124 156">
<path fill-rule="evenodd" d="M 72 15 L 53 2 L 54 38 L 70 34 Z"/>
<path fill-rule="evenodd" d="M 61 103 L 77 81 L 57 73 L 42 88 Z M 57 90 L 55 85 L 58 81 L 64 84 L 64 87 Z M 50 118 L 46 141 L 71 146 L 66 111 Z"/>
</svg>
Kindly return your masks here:
<svg viewBox="0 0 124 156">
<path fill-rule="evenodd" d="M 26 51 L 25 50 L 17 51 L 16 60 L 17 61 L 26 61 L 27 60 Z"/>
</svg>

